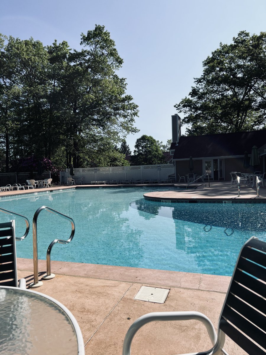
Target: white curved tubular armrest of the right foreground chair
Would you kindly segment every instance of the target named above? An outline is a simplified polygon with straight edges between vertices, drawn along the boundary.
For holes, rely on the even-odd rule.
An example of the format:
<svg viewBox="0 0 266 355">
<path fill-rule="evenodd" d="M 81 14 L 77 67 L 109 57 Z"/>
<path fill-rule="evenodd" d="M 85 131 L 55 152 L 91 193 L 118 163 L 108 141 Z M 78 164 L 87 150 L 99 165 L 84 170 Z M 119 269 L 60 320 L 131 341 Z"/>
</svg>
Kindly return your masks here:
<svg viewBox="0 0 266 355">
<path fill-rule="evenodd" d="M 141 317 L 139 317 L 135 322 L 129 327 L 126 336 L 124 338 L 123 343 L 123 352 L 122 355 L 130 355 L 131 351 L 131 343 L 134 335 L 137 331 L 147 323 L 154 321 L 183 321 L 183 320 L 191 320 L 195 319 L 202 322 L 209 334 L 211 342 L 213 345 L 216 344 L 217 334 L 215 332 L 214 326 L 212 322 L 206 317 L 203 313 L 200 312 L 152 312 L 147 313 Z M 212 349 L 211 349 L 212 350 Z M 211 350 L 206 351 L 206 354 L 209 354 Z M 202 353 L 204 354 L 204 353 Z"/>
</svg>

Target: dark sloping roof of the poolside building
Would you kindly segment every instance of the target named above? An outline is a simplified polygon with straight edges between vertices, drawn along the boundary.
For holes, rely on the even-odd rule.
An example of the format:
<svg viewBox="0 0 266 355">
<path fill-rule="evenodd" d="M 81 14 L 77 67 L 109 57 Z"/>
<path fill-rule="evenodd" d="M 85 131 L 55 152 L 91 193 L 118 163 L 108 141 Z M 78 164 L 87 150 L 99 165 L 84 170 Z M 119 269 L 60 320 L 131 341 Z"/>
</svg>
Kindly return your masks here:
<svg viewBox="0 0 266 355">
<path fill-rule="evenodd" d="M 220 133 L 206 136 L 181 136 L 173 159 L 207 157 L 228 157 L 251 154 L 251 148 L 258 148 L 266 143 L 266 130 L 253 132 Z M 171 149 L 174 149 L 174 143 Z"/>
</svg>

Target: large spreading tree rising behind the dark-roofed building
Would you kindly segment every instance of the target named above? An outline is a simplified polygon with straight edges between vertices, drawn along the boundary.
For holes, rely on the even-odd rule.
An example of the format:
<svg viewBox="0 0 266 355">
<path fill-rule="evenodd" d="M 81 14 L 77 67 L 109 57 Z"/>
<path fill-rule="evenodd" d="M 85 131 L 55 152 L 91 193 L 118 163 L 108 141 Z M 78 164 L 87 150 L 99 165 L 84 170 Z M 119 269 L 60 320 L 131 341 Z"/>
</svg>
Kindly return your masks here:
<svg viewBox="0 0 266 355">
<path fill-rule="evenodd" d="M 238 33 L 203 61 L 189 97 L 174 107 L 189 135 L 250 131 L 266 123 L 266 32 Z"/>
</svg>

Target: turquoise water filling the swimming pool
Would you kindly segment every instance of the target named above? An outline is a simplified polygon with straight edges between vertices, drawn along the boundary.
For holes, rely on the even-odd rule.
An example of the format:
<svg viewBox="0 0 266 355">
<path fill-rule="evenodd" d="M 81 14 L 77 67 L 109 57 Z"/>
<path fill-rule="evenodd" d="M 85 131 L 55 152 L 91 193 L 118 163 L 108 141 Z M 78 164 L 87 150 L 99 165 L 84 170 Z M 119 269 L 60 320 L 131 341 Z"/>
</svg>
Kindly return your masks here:
<svg viewBox="0 0 266 355">
<path fill-rule="evenodd" d="M 56 244 L 52 260 L 231 275 L 249 237 L 266 241 L 266 204 L 159 203 L 143 193 L 166 188 L 100 188 L 1 199 L 0 206 L 26 215 L 31 232 L 17 242 L 17 256 L 32 258 L 32 218 L 48 206 L 74 219 L 68 245 Z M 169 189 L 171 190 L 171 189 Z M 10 217 L 0 213 L 0 222 Z M 24 233 L 16 219 L 16 235 Z M 48 211 L 38 217 L 38 257 L 54 239 L 68 239 L 71 224 Z"/>
</svg>

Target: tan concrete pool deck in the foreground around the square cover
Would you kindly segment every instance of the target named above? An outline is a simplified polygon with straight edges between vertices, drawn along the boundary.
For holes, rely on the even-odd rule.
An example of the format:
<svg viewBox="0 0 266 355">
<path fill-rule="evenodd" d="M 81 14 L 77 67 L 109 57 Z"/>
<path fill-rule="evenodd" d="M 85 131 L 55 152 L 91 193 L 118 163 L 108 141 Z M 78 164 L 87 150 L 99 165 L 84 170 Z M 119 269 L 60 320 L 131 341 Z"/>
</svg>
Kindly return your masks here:
<svg viewBox="0 0 266 355">
<path fill-rule="evenodd" d="M 36 291 L 64 304 L 77 319 L 83 334 L 85 354 L 122 354 L 129 326 L 149 312 L 199 311 L 217 330 L 218 317 L 230 282 L 216 276 L 154 269 L 52 261 L 54 279 L 43 280 Z M 39 260 L 39 279 L 46 261 Z M 18 277 L 33 281 L 33 260 L 18 258 Z M 167 288 L 164 304 L 134 300 L 142 285 Z M 191 342 L 188 342 L 188 339 Z M 197 321 L 155 322 L 135 335 L 132 354 L 181 354 L 211 348 L 207 332 Z M 230 339 L 229 354 L 245 354 Z"/>
</svg>

